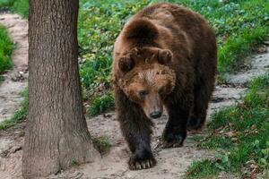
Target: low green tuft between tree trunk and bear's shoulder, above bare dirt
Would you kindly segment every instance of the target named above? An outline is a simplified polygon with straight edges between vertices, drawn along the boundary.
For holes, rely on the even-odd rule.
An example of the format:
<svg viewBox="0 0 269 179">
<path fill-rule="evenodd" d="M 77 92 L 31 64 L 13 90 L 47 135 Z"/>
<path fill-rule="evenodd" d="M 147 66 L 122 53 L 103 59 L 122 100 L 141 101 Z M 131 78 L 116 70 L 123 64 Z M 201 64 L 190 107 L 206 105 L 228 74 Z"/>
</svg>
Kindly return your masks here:
<svg viewBox="0 0 269 179">
<path fill-rule="evenodd" d="M 114 97 L 111 93 L 106 93 L 102 96 L 98 96 L 91 101 L 89 108 L 89 115 L 99 115 L 106 110 L 112 109 L 114 107 Z"/>
</svg>

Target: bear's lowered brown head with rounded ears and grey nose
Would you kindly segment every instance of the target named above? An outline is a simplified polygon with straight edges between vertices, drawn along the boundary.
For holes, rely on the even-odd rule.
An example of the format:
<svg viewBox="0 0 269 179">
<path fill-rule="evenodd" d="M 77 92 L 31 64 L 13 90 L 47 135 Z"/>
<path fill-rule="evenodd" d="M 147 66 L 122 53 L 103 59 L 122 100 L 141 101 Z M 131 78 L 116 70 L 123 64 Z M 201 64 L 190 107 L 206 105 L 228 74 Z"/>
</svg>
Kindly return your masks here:
<svg viewBox="0 0 269 179">
<path fill-rule="evenodd" d="M 119 87 L 149 118 L 159 118 L 165 98 L 174 90 L 176 73 L 169 67 L 172 53 L 156 47 L 134 48 L 118 61 Z"/>
</svg>

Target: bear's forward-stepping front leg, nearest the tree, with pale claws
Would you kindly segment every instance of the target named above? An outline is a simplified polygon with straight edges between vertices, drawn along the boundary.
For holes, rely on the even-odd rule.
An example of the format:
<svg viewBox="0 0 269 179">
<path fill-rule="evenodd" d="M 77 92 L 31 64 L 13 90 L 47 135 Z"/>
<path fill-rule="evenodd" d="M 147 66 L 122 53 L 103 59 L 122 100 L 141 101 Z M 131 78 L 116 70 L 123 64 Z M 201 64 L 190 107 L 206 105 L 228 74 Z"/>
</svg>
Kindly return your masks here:
<svg viewBox="0 0 269 179">
<path fill-rule="evenodd" d="M 117 120 L 127 141 L 132 156 L 128 165 L 132 170 L 150 168 L 156 165 L 152 154 L 152 121 L 143 114 L 143 109 L 130 102 L 126 95 L 116 89 L 115 101 Z"/>
</svg>

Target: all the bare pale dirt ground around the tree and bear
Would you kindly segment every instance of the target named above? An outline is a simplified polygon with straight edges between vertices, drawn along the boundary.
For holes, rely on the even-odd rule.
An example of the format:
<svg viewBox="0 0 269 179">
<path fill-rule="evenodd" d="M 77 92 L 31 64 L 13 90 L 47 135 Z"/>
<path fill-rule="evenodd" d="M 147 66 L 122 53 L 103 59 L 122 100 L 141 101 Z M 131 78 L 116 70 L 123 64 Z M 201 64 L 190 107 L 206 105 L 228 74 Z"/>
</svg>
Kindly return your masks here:
<svg viewBox="0 0 269 179">
<path fill-rule="evenodd" d="M 0 122 L 13 115 L 20 107 L 20 91 L 27 83 L 27 21 L 18 15 L 0 14 L 0 23 L 8 29 L 11 38 L 17 44 L 13 51 L 13 70 L 5 74 L 5 81 L 0 86 Z M 269 47 L 261 47 L 256 55 L 247 57 L 241 70 L 227 76 L 226 84 L 217 85 L 213 93 L 213 100 L 208 110 L 210 116 L 221 107 L 229 107 L 239 103 L 247 90 L 247 81 L 265 73 L 269 69 Z M 19 74 L 19 75 L 18 75 Z M 23 79 L 23 80 L 22 80 Z M 198 149 L 195 136 L 203 132 L 189 134 L 181 148 L 161 149 L 160 136 L 167 122 L 168 115 L 162 115 L 154 120 L 152 136 L 152 150 L 157 160 L 153 168 L 131 171 L 127 167 L 130 151 L 123 139 L 114 112 L 87 119 L 87 124 L 94 139 L 108 138 L 111 147 L 102 155 L 100 162 L 75 166 L 48 178 L 184 178 L 187 167 L 198 158 L 213 156 L 211 150 Z M 0 131 L 0 179 L 22 178 L 22 149 L 25 122 Z M 235 178 L 228 174 L 221 174 L 218 178 Z"/>
</svg>

